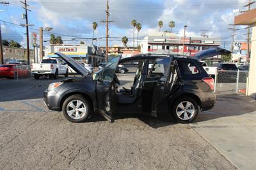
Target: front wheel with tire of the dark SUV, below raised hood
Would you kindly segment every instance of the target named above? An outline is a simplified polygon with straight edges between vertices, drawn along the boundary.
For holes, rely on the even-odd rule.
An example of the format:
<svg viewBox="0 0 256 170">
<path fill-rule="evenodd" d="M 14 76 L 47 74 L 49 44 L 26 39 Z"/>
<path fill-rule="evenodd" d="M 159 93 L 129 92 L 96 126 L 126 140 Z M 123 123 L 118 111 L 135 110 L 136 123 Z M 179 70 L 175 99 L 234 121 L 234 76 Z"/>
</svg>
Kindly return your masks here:
<svg viewBox="0 0 256 170">
<path fill-rule="evenodd" d="M 90 103 L 81 95 L 68 97 L 62 105 L 63 115 L 68 121 L 74 123 L 86 121 L 90 115 L 90 111 Z"/>
</svg>

